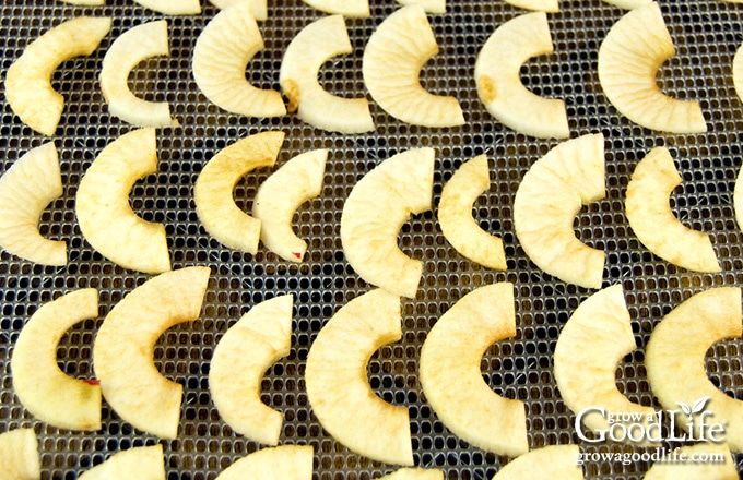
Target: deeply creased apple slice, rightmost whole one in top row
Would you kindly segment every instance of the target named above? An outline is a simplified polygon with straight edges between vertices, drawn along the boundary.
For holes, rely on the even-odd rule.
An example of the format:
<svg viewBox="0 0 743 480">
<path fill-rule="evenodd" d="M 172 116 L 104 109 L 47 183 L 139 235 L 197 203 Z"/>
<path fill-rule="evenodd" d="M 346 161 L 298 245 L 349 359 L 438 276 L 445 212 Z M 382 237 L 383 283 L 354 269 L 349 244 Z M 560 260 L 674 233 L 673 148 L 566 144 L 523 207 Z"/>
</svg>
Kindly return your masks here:
<svg viewBox="0 0 743 480">
<path fill-rule="evenodd" d="M 599 47 L 599 81 L 609 101 L 635 123 L 672 133 L 700 133 L 707 123 L 696 100 L 672 98 L 656 83 L 676 52 L 657 2 L 625 13 Z"/>
</svg>

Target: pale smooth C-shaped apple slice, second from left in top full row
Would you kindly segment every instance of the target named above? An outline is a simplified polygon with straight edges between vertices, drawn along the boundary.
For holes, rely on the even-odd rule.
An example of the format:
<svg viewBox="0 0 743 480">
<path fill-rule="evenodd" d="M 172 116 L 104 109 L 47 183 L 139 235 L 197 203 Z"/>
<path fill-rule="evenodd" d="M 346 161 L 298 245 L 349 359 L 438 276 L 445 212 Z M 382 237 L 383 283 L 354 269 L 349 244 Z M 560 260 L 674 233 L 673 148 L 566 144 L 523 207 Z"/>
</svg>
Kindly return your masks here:
<svg viewBox="0 0 743 480">
<path fill-rule="evenodd" d="M 128 79 L 142 61 L 169 55 L 167 21 L 146 22 L 129 28 L 108 48 L 101 68 L 101 91 L 108 111 L 137 127 L 178 127 L 166 101 L 150 101 L 129 89 Z"/>
</svg>

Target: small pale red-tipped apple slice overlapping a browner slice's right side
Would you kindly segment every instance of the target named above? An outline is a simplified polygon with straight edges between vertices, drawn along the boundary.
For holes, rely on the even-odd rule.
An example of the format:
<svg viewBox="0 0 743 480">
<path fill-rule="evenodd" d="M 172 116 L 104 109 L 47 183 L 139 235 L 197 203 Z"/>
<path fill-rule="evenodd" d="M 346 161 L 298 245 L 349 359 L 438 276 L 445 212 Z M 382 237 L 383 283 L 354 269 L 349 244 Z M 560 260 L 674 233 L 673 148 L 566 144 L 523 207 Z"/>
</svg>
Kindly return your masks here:
<svg viewBox="0 0 743 480">
<path fill-rule="evenodd" d="M 305 152 L 284 164 L 258 187 L 252 215 L 260 220 L 260 238 L 284 260 L 302 262 L 307 242 L 292 230 L 299 205 L 322 192 L 327 149 Z"/>
</svg>

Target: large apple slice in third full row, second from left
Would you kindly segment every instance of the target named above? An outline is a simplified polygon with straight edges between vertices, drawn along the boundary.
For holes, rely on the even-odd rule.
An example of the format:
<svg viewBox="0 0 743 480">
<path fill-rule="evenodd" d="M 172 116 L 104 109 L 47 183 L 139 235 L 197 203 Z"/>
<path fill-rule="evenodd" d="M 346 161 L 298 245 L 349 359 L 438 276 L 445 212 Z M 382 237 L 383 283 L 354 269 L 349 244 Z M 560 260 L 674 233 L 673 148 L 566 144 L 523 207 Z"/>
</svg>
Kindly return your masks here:
<svg viewBox="0 0 743 480">
<path fill-rule="evenodd" d="M 209 267 L 155 276 L 111 309 L 93 346 L 93 365 L 111 408 L 133 427 L 175 439 L 184 387 L 153 363 L 155 344 L 172 326 L 196 320 L 209 283 Z"/>
</svg>

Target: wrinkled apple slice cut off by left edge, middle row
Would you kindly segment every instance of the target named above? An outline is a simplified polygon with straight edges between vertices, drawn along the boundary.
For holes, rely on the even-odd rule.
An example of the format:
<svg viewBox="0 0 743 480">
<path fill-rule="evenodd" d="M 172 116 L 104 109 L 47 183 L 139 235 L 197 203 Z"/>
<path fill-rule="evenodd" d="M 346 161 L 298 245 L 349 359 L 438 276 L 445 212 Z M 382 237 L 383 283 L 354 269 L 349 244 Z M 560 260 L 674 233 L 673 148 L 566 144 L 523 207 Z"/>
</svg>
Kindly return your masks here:
<svg viewBox="0 0 743 480">
<path fill-rule="evenodd" d="M 26 152 L 0 177 L 0 247 L 43 265 L 67 264 L 67 242 L 42 237 L 44 209 L 62 196 L 62 176 L 54 143 Z"/>
</svg>

